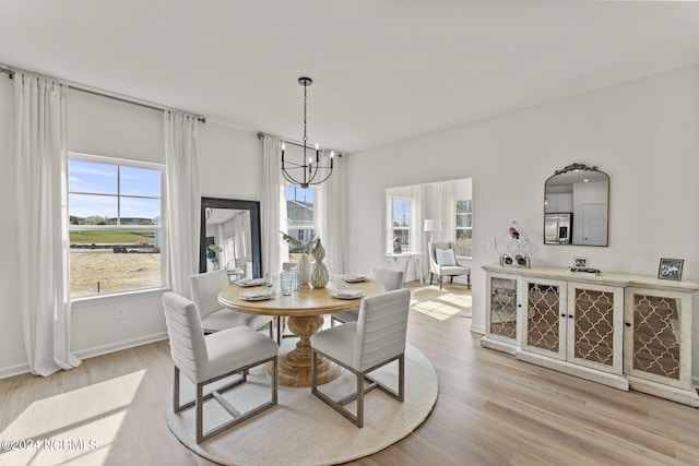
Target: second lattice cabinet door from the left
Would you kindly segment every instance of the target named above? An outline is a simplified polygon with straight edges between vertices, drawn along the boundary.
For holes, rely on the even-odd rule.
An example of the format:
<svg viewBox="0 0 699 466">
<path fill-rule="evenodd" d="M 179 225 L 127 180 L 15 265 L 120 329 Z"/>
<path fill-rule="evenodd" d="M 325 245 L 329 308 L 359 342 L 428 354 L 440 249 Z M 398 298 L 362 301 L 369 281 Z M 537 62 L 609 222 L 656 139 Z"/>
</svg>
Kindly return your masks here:
<svg viewBox="0 0 699 466">
<path fill-rule="evenodd" d="M 522 348 L 566 359 L 566 282 L 525 278 L 522 288 Z"/>
</svg>

